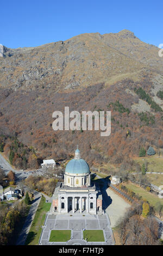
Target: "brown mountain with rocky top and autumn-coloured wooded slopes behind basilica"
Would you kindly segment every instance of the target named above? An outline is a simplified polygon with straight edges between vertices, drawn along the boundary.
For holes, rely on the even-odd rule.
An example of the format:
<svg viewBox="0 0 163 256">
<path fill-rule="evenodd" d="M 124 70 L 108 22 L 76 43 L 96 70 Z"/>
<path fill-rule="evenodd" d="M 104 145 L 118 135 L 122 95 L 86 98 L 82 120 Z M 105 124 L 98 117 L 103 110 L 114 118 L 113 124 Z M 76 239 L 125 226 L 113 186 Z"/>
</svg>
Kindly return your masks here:
<svg viewBox="0 0 163 256">
<path fill-rule="evenodd" d="M 160 147 L 159 141 L 163 145 L 163 101 L 157 96 L 163 88 L 163 59 L 157 47 L 133 32 L 86 33 L 34 48 L 5 49 L 4 54 L 0 58 L 0 133 L 16 133 L 38 155 L 67 159 L 67 152 L 73 154 L 74 145 L 81 144 L 91 164 L 102 163 L 104 156 L 120 164 L 126 155 L 137 155 L 142 145 L 146 149 L 149 144 Z M 64 112 L 65 106 L 79 112 L 110 110 L 111 135 L 54 131 L 52 113 Z"/>
</svg>

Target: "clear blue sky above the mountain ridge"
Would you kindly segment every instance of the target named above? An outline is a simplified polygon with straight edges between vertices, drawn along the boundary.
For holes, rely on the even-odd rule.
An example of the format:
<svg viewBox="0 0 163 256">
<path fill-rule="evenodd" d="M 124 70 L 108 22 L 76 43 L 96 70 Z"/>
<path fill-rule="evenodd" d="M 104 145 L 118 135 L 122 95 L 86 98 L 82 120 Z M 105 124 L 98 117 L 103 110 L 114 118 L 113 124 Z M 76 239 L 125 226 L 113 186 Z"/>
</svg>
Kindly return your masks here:
<svg viewBox="0 0 163 256">
<path fill-rule="evenodd" d="M 0 44 L 10 48 L 64 41 L 72 36 L 128 29 L 142 41 L 163 44 L 163 1 L 15 0 L 0 3 Z"/>
</svg>

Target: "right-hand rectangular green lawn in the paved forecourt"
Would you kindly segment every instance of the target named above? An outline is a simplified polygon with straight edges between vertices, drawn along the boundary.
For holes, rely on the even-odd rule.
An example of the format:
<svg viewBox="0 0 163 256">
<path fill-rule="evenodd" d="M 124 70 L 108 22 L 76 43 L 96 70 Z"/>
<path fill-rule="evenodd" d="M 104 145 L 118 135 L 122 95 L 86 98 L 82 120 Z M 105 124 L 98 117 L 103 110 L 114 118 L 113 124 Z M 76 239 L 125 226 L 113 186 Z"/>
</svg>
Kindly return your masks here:
<svg viewBox="0 0 163 256">
<path fill-rule="evenodd" d="M 83 231 L 84 239 L 87 238 L 88 242 L 104 242 L 104 233 L 102 229 L 87 229 Z"/>
</svg>

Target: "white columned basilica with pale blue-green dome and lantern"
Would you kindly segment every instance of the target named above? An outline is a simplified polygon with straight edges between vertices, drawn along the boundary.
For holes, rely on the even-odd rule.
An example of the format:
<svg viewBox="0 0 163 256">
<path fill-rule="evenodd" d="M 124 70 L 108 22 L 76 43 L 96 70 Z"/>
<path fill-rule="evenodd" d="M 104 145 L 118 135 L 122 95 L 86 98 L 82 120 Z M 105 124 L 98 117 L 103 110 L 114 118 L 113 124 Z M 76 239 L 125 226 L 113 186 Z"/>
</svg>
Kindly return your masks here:
<svg viewBox="0 0 163 256">
<path fill-rule="evenodd" d="M 64 182 L 58 182 L 52 197 L 51 212 L 55 214 L 100 214 L 102 194 L 97 185 L 91 184 L 87 162 L 80 158 L 77 148 L 74 159 L 67 163 Z"/>
</svg>

